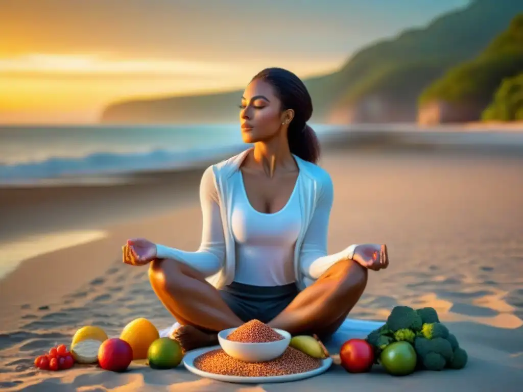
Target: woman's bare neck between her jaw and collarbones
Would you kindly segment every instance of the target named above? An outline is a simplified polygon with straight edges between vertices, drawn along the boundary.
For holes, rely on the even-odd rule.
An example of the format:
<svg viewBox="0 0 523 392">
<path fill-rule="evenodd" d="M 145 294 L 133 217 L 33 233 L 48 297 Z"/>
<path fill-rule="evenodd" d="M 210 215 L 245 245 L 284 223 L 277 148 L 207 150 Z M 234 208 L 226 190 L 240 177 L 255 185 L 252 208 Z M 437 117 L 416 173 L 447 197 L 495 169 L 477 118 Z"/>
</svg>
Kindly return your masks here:
<svg viewBox="0 0 523 392">
<path fill-rule="evenodd" d="M 275 138 L 267 142 L 255 143 L 253 158 L 269 177 L 274 176 L 277 169 L 295 165 L 287 139 Z"/>
</svg>

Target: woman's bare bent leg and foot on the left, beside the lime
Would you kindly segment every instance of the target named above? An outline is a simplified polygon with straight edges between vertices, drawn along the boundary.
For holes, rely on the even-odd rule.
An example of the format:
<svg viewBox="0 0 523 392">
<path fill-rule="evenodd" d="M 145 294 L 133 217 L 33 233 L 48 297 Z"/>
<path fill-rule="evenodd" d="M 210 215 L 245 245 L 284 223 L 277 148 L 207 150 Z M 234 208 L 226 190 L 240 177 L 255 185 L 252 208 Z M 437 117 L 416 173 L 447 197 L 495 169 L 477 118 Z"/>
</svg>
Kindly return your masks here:
<svg viewBox="0 0 523 392">
<path fill-rule="evenodd" d="M 217 331 L 243 324 L 203 275 L 179 261 L 154 260 L 149 280 L 160 301 L 182 325 L 174 338 L 185 350 L 214 344 Z"/>
</svg>

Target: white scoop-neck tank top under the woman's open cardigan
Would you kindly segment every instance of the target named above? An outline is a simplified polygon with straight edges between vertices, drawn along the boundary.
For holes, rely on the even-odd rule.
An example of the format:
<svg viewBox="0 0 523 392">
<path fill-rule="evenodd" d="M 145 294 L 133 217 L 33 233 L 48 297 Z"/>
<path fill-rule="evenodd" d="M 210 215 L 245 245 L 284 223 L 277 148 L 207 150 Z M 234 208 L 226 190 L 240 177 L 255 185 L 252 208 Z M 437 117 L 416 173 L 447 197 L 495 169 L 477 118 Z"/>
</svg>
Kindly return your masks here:
<svg viewBox="0 0 523 392">
<path fill-rule="evenodd" d="M 232 233 L 236 241 L 234 281 L 255 286 L 280 286 L 295 282 L 294 244 L 301 228 L 297 185 L 287 204 L 274 214 L 254 209 L 247 198 L 243 175 L 232 200 Z"/>
</svg>

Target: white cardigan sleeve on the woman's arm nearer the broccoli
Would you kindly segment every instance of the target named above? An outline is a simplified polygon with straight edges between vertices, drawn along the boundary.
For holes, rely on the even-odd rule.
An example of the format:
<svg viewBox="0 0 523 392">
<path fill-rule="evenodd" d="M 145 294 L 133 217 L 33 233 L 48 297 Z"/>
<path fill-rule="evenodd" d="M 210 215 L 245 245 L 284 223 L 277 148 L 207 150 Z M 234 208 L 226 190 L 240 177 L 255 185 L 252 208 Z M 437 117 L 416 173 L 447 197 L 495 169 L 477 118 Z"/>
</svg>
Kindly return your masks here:
<svg viewBox="0 0 523 392">
<path fill-rule="evenodd" d="M 344 250 L 327 255 L 328 223 L 334 201 L 334 187 L 331 177 L 325 173 L 321 181 L 320 196 L 311 223 L 300 251 L 300 266 L 303 274 L 316 280 L 340 260 L 353 258 L 357 245 L 350 245 Z"/>
</svg>

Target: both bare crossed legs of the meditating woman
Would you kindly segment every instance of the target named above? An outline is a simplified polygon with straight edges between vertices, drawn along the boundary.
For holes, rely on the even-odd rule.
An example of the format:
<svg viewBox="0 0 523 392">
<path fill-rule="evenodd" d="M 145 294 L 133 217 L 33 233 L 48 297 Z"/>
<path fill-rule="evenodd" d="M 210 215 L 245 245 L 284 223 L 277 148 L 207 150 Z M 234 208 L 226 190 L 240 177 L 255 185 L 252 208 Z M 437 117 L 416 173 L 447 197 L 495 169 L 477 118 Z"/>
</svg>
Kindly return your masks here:
<svg viewBox="0 0 523 392">
<path fill-rule="evenodd" d="M 367 269 L 353 260 L 337 262 L 269 321 L 269 326 L 291 335 L 331 335 L 358 302 L 367 275 Z M 243 324 L 201 273 L 179 261 L 154 260 L 149 279 L 160 301 L 182 325 L 173 338 L 185 350 L 215 344 L 217 331 Z"/>
</svg>

